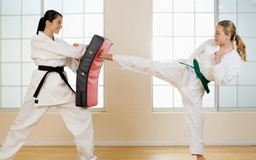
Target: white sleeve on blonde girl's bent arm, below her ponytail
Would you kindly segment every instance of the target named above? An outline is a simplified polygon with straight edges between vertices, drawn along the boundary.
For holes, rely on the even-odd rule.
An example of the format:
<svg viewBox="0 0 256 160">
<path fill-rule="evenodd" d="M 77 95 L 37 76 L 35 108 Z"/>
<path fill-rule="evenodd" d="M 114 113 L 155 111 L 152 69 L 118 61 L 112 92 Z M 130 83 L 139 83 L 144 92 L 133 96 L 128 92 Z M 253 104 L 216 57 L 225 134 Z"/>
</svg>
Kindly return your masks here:
<svg viewBox="0 0 256 160">
<path fill-rule="evenodd" d="M 221 61 L 221 63 L 213 67 L 213 76 L 218 85 L 225 85 L 232 80 L 241 68 L 241 58 L 238 57 L 231 60 L 231 64 Z"/>
</svg>

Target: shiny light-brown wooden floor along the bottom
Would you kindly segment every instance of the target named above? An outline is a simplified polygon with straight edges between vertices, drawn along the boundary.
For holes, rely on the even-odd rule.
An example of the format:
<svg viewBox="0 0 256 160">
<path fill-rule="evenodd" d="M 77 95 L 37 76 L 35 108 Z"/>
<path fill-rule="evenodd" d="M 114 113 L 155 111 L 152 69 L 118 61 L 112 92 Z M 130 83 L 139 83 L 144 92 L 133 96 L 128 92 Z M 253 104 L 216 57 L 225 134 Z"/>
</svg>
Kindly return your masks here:
<svg viewBox="0 0 256 160">
<path fill-rule="evenodd" d="M 99 160 L 196 160 L 188 146 L 96 146 Z M 256 160 L 256 146 L 205 146 L 206 160 Z M 79 160 L 75 146 L 24 146 L 14 160 Z"/>
</svg>

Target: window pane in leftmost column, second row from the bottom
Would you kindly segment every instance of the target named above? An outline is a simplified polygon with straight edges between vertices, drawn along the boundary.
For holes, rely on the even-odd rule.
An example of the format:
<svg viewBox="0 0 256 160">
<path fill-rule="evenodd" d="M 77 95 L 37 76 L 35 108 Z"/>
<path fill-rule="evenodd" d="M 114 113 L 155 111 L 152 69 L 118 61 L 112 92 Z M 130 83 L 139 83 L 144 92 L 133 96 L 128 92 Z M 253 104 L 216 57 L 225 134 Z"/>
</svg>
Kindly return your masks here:
<svg viewBox="0 0 256 160">
<path fill-rule="evenodd" d="M 21 85 L 21 63 L 2 63 L 2 85 Z"/>
</svg>

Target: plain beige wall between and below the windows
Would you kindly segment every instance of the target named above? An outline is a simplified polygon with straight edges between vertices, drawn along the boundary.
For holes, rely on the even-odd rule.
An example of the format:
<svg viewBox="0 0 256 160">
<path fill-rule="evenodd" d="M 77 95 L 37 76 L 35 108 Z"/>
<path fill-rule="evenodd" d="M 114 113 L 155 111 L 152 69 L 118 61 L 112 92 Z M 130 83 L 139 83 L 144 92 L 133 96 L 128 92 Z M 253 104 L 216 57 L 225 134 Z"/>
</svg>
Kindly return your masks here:
<svg viewBox="0 0 256 160">
<path fill-rule="evenodd" d="M 150 58 L 151 19 L 151 0 L 105 0 L 105 36 L 114 42 L 111 52 Z M 106 66 L 106 113 L 93 113 L 96 144 L 188 143 L 182 112 L 151 112 L 149 76 L 120 71 L 112 62 Z M 17 114 L 0 113 L 0 142 Z M 256 112 L 206 112 L 204 135 L 206 144 L 256 144 Z M 60 114 L 47 113 L 28 141 L 57 144 L 73 138 Z"/>
</svg>

